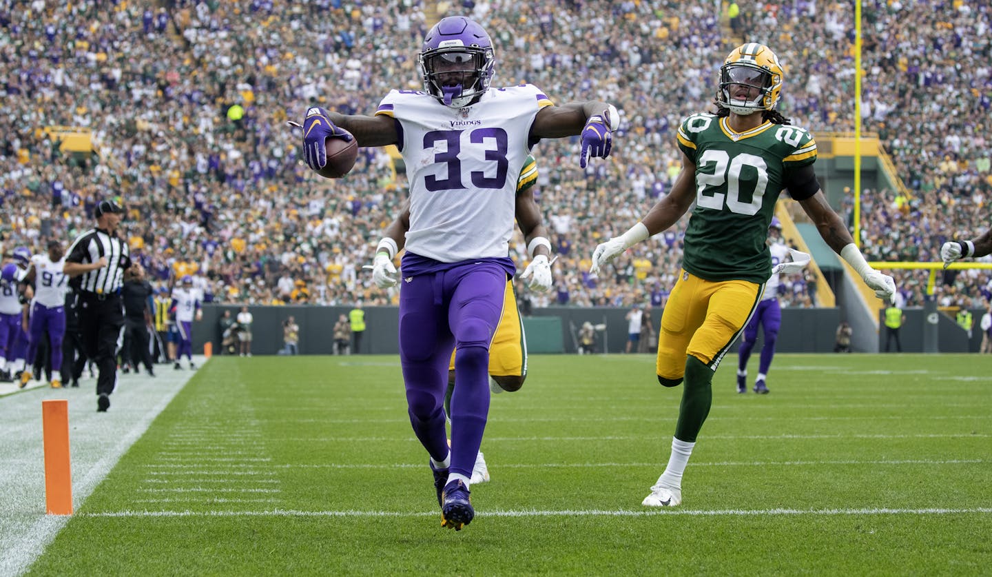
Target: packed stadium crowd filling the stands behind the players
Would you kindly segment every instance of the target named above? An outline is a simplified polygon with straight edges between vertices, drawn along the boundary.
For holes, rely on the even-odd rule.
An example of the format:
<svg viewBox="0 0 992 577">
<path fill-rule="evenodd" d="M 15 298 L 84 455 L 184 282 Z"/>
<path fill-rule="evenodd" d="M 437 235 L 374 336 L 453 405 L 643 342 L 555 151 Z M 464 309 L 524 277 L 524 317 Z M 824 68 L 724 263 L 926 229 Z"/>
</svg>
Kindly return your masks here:
<svg viewBox="0 0 992 577">
<path fill-rule="evenodd" d="M 389 89 L 420 88 L 416 55 L 448 13 L 493 36 L 494 85 L 527 81 L 556 101 L 621 110 L 611 158 L 585 171 L 577 141 L 536 147 L 537 197 L 560 257 L 555 291 L 521 284 L 519 294 L 536 307 L 664 304 L 684 220 L 602 278 L 589 277 L 589 255 L 666 193 L 680 168 L 678 123 L 712 108 L 719 65 L 743 40 L 713 0 L 0 0 L 4 250 L 72 238 L 95 203 L 117 197 L 134 254 L 159 284 L 194 274 L 217 302 L 390 302 L 361 267 L 400 210 L 403 171 L 363 149 L 346 178 L 322 179 L 286 121 L 314 104 L 371 113 Z M 814 134 L 852 130 L 851 5 L 755 3 L 741 17 L 748 40 L 783 62 L 782 112 Z M 863 129 L 878 133 L 906 185 L 861 196 L 869 260 L 938 260 L 945 239 L 987 225 L 990 20 L 981 3 L 865 2 Z M 62 151 L 53 126 L 91 130 L 94 152 Z M 522 271 L 523 243 L 513 250 Z M 906 305 L 921 304 L 925 273 L 896 276 Z M 785 306 L 814 305 L 808 280 L 785 279 Z M 984 271 L 948 281 L 942 304 L 989 296 Z"/>
</svg>

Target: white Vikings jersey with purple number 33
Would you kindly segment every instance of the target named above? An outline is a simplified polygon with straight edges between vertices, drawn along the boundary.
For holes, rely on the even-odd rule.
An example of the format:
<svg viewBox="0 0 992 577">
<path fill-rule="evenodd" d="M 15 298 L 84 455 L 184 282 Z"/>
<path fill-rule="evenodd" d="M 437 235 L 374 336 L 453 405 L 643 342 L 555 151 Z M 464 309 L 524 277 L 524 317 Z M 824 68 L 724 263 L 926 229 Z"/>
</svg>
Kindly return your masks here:
<svg viewBox="0 0 992 577">
<path fill-rule="evenodd" d="M 407 250 L 440 262 L 509 256 L 517 179 L 538 110 L 554 103 L 532 84 L 490 88 L 451 108 L 393 90 L 376 115 L 395 118 L 410 182 Z"/>
</svg>

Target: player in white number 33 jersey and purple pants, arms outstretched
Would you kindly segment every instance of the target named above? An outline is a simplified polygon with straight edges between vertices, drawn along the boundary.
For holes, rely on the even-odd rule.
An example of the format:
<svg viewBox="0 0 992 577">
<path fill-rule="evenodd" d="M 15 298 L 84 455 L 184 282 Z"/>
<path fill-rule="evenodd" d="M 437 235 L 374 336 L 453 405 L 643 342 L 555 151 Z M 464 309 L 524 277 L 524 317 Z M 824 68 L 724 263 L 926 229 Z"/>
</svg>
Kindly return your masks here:
<svg viewBox="0 0 992 577">
<path fill-rule="evenodd" d="M 310 108 L 304 154 L 315 171 L 326 166 L 328 138 L 395 144 L 403 155 L 410 230 L 402 261 L 400 361 L 410 421 L 430 455 L 441 524 L 460 529 L 474 516 L 469 484 L 489 412 L 489 347 L 507 279 L 516 271 L 509 257 L 516 177 L 542 138 L 581 135 L 582 168 L 590 156 L 607 157 L 619 115 L 601 100 L 556 106 L 532 84 L 490 88 L 492 41 L 462 16 L 434 25 L 418 64 L 424 90 L 391 91 L 374 116 Z M 530 254 L 546 261 L 551 243 L 532 244 Z M 454 348 L 449 450 L 442 403 Z"/>
</svg>

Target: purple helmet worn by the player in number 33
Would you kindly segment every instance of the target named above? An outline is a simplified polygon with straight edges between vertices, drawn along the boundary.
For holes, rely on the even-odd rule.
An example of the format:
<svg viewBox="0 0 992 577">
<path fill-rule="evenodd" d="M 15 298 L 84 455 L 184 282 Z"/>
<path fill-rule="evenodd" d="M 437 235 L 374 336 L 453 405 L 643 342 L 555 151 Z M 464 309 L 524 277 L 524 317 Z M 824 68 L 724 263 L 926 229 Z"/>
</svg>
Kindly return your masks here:
<svg viewBox="0 0 992 577">
<path fill-rule="evenodd" d="M 489 89 L 496 58 L 481 26 L 464 16 L 448 16 L 424 39 L 418 63 L 425 91 L 445 106 L 461 108 Z"/>
</svg>

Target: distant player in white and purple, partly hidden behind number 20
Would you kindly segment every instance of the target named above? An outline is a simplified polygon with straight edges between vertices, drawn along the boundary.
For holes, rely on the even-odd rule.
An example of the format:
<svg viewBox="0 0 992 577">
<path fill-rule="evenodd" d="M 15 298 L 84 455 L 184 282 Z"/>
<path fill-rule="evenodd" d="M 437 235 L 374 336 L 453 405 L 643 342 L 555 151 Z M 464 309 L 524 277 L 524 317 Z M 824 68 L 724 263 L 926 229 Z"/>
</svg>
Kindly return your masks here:
<svg viewBox="0 0 992 577">
<path fill-rule="evenodd" d="M 776 266 L 784 264 L 790 259 L 797 264 L 801 263 L 802 259 L 793 258 L 790 254 L 790 248 L 782 242 L 782 222 L 777 217 L 772 217 L 768 232 L 768 249 L 772 253 L 773 271 Z M 772 276 L 768 277 L 768 281 L 765 283 L 765 292 L 761 296 L 761 303 L 744 327 L 744 340 L 737 352 L 737 392 L 747 392 L 747 361 L 751 358 L 751 352 L 758 341 L 758 325 L 760 324 L 764 330 L 765 342 L 761 347 L 761 362 L 758 364 L 758 376 L 754 380 L 754 391 L 758 394 L 768 393 L 765 377 L 768 375 L 768 369 L 772 366 L 772 358 L 775 357 L 775 343 L 779 337 L 779 328 L 782 326 L 782 306 L 779 303 L 780 274 L 773 272 Z"/>
</svg>

